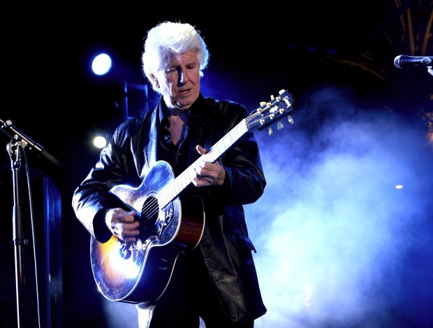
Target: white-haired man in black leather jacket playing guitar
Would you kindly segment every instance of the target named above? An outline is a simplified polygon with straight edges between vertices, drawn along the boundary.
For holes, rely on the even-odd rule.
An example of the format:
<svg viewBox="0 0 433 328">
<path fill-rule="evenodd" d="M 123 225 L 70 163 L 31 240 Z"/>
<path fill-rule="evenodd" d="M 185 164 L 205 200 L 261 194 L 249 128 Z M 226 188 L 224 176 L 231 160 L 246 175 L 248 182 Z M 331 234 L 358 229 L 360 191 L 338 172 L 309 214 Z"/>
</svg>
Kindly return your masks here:
<svg viewBox="0 0 433 328">
<path fill-rule="evenodd" d="M 182 205 L 171 208 L 174 217 L 179 208 L 182 220 L 203 215 L 191 224 L 199 228 L 198 238 L 189 245 L 175 239 L 164 246 L 179 250 L 173 273 L 156 299 L 136 300 L 140 327 L 197 328 L 199 318 L 207 328 L 254 327 L 254 320 L 266 312 L 242 208 L 256 201 L 266 185 L 258 145 L 248 132 L 218 160 L 205 160 L 210 147 L 247 116 L 240 104 L 200 93 L 208 59 L 203 38 L 190 24 L 163 22 L 148 31 L 142 69 L 161 94 L 159 104 L 116 129 L 73 195 L 77 218 L 98 243 L 115 236 L 126 248 L 136 249 L 150 238 L 162 243 L 176 220 L 170 217 L 168 224 L 152 218 L 147 220 L 150 227 L 142 227 L 137 220 L 141 209 L 131 211 L 109 191 L 116 185 L 138 187 L 154 175 L 156 163 L 164 168 L 168 163 L 174 176 L 189 170 L 185 176 L 191 180 L 179 192 Z"/>
</svg>

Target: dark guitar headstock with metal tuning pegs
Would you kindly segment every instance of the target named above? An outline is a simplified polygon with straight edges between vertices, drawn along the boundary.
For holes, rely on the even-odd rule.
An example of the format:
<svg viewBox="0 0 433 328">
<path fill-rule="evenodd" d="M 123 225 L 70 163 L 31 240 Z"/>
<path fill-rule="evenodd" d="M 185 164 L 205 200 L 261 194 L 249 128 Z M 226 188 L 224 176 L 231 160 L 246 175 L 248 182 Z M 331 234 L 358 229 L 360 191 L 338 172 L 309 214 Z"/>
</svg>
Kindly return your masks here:
<svg viewBox="0 0 433 328">
<path fill-rule="evenodd" d="M 270 101 L 260 103 L 260 107 L 253 110 L 247 117 L 249 130 L 261 130 L 269 126 L 269 134 L 272 134 L 270 124 L 277 121 L 277 128 L 282 129 L 281 118 L 288 117 L 288 122 L 293 124 L 290 113 L 293 109 L 293 97 L 287 90 L 280 90 L 277 97 L 271 96 Z"/>
</svg>

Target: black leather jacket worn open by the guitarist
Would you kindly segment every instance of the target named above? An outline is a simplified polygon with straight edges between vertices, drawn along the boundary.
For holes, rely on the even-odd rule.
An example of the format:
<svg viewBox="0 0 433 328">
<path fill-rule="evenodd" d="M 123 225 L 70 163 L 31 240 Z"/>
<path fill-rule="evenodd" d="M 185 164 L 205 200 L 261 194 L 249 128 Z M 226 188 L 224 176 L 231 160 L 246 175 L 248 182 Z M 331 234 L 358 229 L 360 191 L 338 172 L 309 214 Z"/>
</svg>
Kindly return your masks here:
<svg viewBox="0 0 433 328">
<path fill-rule="evenodd" d="M 247 114 L 240 104 L 201 94 L 196 103 L 200 106 L 194 104 L 190 110 L 190 163 L 199 157 L 197 144 L 209 149 Z M 140 185 L 158 159 L 159 106 L 145 117 L 127 120 L 115 130 L 100 159 L 73 194 L 77 218 L 98 241 L 105 242 L 111 236 L 101 213 L 119 207 L 108 191 L 118 184 Z M 266 181 L 251 132 L 220 160 L 226 169 L 226 180 L 223 186 L 202 190 L 206 223 L 199 247 L 230 320 L 244 322 L 266 312 L 251 254 L 256 250 L 249 239 L 242 208 L 263 194 Z"/>
</svg>

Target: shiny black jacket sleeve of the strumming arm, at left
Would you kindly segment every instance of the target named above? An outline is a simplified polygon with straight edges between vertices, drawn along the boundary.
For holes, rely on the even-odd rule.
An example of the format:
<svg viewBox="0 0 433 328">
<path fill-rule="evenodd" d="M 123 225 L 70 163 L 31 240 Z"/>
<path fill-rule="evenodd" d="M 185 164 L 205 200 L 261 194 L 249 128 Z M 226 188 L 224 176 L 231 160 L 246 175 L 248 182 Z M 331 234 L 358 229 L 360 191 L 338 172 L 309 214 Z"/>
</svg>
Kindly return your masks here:
<svg viewBox="0 0 433 328">
<path fill-rule="evenodd" d="M 105 225 L 105 212 L 117 207 L 127 210 L 124 203 L 110 193 L 112 187 L 125 183 L 128 171 L 131 171 L 127 163 L 133 155 L 130 151 L 125 152 L 125 149 L 131 149 L 131 138 L 127 131 L 126 122 L 117 127 L 110 142 L 101 151 L 98 162 L 73 192 L 75 215 L 90 234 L 102 243 L 111 237 Z"/>
</svg>

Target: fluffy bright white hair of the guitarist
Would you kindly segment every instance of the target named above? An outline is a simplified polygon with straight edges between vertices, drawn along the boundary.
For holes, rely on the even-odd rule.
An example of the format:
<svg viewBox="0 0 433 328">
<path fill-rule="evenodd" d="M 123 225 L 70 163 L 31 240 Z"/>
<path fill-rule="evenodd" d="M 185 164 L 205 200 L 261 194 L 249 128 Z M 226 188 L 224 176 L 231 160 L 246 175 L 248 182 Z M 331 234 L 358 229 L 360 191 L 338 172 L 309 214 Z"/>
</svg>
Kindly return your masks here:
<svg viewBox="0 0 433 328">
<path fill-rule="evenodd" d="M 163 69 L 170 55 L 181 55 L 190 50 L 197 52 L 200 76 L 203 76 L 203 69 L 209 61 L 209 51 L 199 31 L 190 24 L 180 22 L 162 22 L 147 31 L 145 50 L 142 52 L 142 71 L 156 92 L 159 90 L 151 74 Z"/>
</svg>

